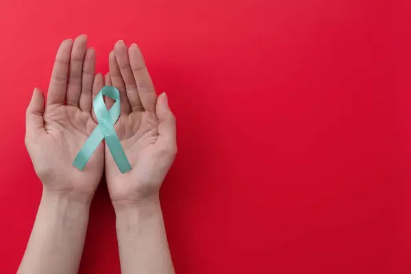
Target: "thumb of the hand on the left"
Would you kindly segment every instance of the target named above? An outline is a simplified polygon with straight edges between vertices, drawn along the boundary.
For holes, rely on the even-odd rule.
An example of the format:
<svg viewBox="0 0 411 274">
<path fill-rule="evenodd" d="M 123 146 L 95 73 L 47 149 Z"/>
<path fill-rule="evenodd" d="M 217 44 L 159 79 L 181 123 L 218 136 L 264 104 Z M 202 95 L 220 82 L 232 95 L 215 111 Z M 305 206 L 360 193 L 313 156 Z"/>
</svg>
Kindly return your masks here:
<svg viewBox="0 0 411 274">
<path fill-rule="evenodd" d="M 32 100 L 26 111 L 26 136 L 37 136 L 45 132 L 44 112 L 45 95 L 38 88 L 34 88 Z"/>
</svg>

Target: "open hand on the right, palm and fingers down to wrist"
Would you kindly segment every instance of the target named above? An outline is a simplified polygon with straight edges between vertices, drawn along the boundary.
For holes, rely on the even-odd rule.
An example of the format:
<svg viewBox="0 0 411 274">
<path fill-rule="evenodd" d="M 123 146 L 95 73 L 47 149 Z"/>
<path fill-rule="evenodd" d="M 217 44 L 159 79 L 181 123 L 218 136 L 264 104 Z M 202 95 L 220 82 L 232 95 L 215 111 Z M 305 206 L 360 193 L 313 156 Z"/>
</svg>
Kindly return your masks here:
<svg viewBox="0 0 411 274">
<path fill-rule="evenodd" d="M 177 152 L 175 118 L 165 93 L 157 97 L 140 49 L 123 41 L 109 57 L 106 85 L 120 91 L 121 115 L 114 125 L 132 171 L 121 174 L 105 147 L 105 177 L 116 203 L 136 202 L 158 195 Z M 112 101 L 108 100 L 110 108 Z"/>
</svg>

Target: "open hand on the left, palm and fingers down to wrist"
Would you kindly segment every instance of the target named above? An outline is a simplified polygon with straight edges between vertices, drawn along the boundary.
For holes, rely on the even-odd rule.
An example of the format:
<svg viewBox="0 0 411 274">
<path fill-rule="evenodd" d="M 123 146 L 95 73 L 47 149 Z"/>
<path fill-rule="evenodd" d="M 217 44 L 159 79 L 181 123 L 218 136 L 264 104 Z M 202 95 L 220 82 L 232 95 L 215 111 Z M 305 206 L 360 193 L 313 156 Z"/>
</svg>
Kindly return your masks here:
<svg viewBox="0 0 411 274">
<path fill-rule="evenodd" d="M 91 199 L 104 167 L 101 144 L 84 171 L 73 166 L 75 155 L 97 126 L 92 116 L 92 97 L 103 86 L 95 77 L 95 51 L 86 49 L 86 36 L 64 40 L 55 58 L 45 98 L 34 90 L 27 108 L 26 146 L 38 177 L 47 190 Z"/>
</svg>

